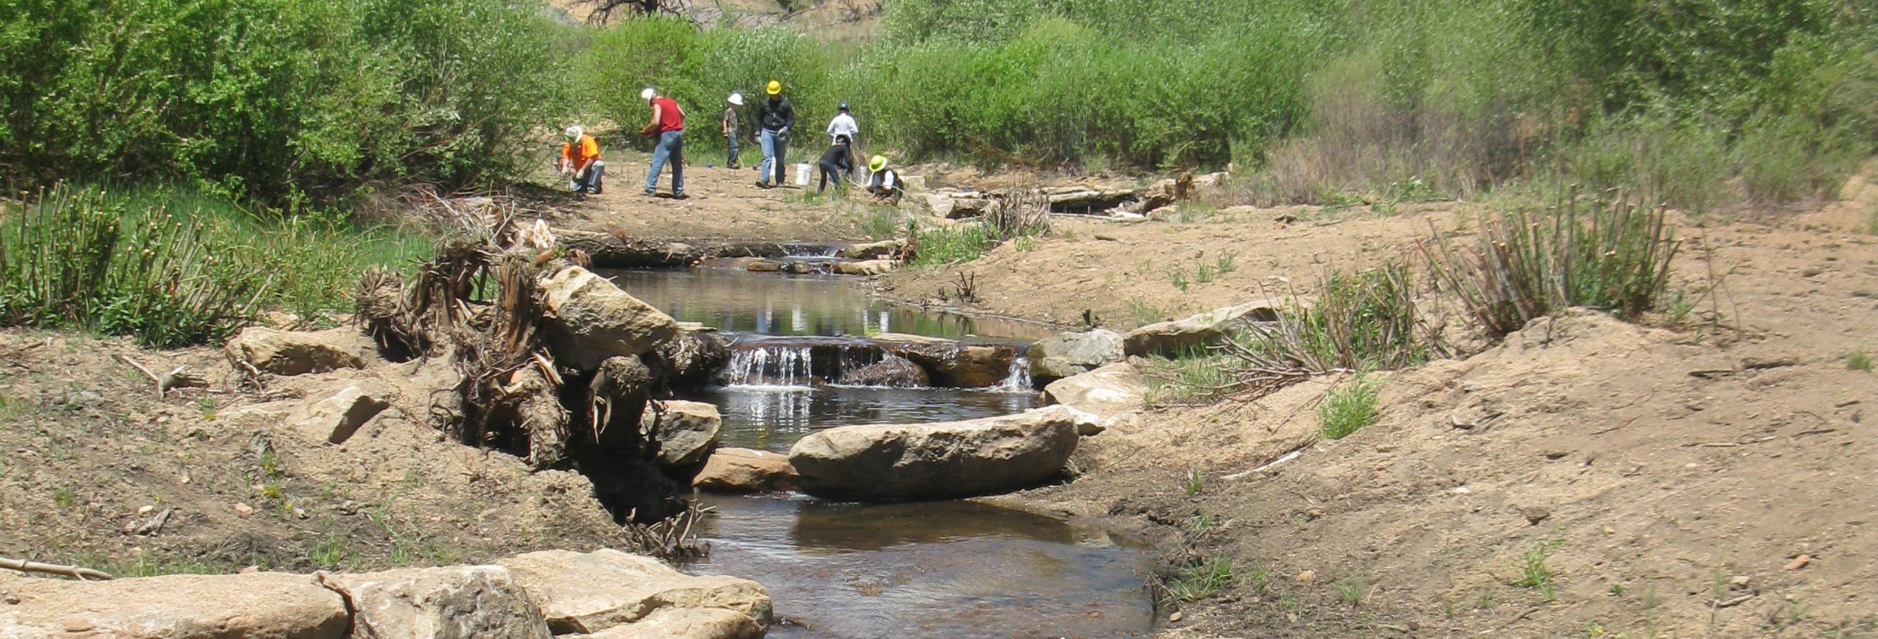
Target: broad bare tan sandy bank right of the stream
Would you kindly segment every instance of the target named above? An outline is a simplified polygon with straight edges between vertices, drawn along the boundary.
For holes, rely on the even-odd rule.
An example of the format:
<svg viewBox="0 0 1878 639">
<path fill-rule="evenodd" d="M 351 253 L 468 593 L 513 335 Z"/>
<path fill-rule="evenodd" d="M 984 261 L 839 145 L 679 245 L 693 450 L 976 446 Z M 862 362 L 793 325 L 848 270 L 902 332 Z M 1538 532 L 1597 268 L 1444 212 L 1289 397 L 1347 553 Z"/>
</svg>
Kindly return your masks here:
<svg viewBox="0 0 1878 639">
<path fill-rule="evenodd" d="M 1578 311 L 1465 362 L 1388 375 L 1380 422 L 1343 440 L 1315 438 L 1328 382 L 1151 410 L 1087 438 L 1074 482 L 1001 500 L 1138 530 L 1176 562 L 1230 558 L 1238 581 L 1185 605 L 1170 637 L 1870 633 L 1878 377 L 1848 369 L 1844 354 L 1878 350 L 1878 244 L 1827 230 L 1824 215 L 1833 212 L 1685 227 L 1681 277 L 1728 272 L 1718 307 L 1739 335 Z M 1311 257 L 1320 247 L 1341 242 L 1335 259 L 1363 259 L 1373 251 L 1352 244 L 1388 236 L 1360 229 L 1399 223 L 1333 225 L 1318 230 L 1337 240 L 1322 242 L 1273 229 L 1238 245 L 1309 274 L 1324 264 Z M 1102 304 L 1101 266 L 1162 253 L 1132 244 L 1159 240 L 1157 227 L 1104 232 L 1127 240 L 1084 251 L 1091 240 L 1078 232 L 993 255 L 1005 272 L 980 277 L 1076 274 L 1059 279 L 1057 304 Z M 1200 225 L 1162 244 L 1181 255 L 1209 245 L 1194 234 L 1232 240 L 1217 232 Z M 1243 285 L 1196 307 L 1239 302 Z M 1185 491 L 1189 468 L 1206 476 L 1198 497 Z M 1202 513 L 1213 530 L 1196 532 Z M 1514 585 L 1536 547 L 1549 549 L 1557 602 Z"/>
</svg>

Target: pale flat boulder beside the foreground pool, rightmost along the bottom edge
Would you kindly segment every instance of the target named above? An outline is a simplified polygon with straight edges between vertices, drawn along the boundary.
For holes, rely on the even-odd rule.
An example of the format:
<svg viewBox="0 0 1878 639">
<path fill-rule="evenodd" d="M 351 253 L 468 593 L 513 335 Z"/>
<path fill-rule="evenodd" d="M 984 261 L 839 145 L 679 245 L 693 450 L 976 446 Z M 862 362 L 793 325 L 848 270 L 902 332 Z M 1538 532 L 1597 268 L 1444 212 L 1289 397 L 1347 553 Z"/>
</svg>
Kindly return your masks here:
<svg viewBox="0 0 1878 639">
<path fill-rule="evenodd" d="M 770 624 L 770 594 L 749 579 L 693 577 L 614 549 L 537 551 L 500 560 L 541 603 L 554 633 L 595 633 L 667 609 L 727 609 Z"/>
</svg>

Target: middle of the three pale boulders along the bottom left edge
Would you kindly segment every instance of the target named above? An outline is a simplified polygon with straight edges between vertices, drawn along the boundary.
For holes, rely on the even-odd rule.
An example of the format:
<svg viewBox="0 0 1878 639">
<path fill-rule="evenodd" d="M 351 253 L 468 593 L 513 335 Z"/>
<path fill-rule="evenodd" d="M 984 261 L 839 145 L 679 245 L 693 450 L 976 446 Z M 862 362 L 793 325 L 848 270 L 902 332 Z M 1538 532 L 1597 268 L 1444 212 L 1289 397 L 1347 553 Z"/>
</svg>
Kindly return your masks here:
<svg viewBox="0 0 1878 639">
<path fill-rule="evenodd" d="M 323 573 L 353 609 L 351 639 L 550 639 L 541 607 L 501 566 Z"/>
</svg>

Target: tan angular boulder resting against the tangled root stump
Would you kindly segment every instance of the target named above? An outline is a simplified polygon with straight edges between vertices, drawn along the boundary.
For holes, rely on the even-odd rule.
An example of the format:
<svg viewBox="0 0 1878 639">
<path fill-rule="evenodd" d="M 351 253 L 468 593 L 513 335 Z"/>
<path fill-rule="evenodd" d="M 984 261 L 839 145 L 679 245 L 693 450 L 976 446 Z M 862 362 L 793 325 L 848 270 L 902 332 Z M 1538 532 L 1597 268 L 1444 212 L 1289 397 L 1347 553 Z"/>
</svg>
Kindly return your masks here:
<svg viewBox="0 0 1878 639">
<path fill-rule="evenodd" d="M 554 362 L 582 371 L 612 356 L 637 356 L 672 339 L 678 326 L 610 279 L 569 266 L 541 279 L 543 332 Z"/>
</svg>

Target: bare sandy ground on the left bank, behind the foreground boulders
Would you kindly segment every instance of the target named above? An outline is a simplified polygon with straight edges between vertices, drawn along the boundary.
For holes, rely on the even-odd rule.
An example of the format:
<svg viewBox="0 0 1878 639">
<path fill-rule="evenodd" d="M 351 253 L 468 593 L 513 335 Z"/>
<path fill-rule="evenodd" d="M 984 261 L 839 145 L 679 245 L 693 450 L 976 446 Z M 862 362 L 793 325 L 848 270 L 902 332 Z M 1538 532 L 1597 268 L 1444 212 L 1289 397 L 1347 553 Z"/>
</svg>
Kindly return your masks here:
<svg viewBox="0 0 1878 639">
<path fill-rule="evenodd" d="M 188 365 L 214 392 L 158 399 L 115 354 Z M 625 545 L 586 478 L 443 440 L 430 425 L 434 384 L 419 382 L 441 369 L 441 360 L 374 362 L 282 377 L 269 390 L 304 399 L 267 401 L 237 392 L 220 349 L 0 332 L 0 555 L 304 572 Z M 287 424 L 291 405 L 349 384 L 394 399 L 346 444 Z M 158 534 L 126 530 L 163 510 Z"/>
</svg>

